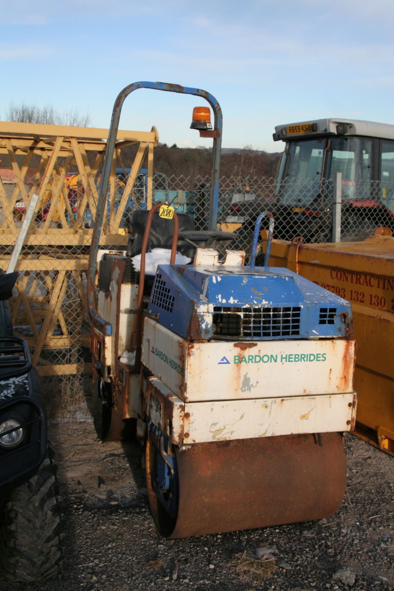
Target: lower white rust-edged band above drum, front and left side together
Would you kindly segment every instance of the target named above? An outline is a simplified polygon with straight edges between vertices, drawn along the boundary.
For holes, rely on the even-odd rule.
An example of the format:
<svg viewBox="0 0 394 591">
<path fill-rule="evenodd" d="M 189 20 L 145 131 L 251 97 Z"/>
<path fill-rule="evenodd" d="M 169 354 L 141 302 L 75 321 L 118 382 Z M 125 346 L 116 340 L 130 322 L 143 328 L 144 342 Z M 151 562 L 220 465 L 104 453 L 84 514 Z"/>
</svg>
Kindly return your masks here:
<svg viewBox="0 0 394 591">
<path fill-rule="evenodd" d="M 145 414 L 172 444 L 351 431 L 356 394 L 183 402 L 158 378 L 146 381 Z"/>
</svg>

